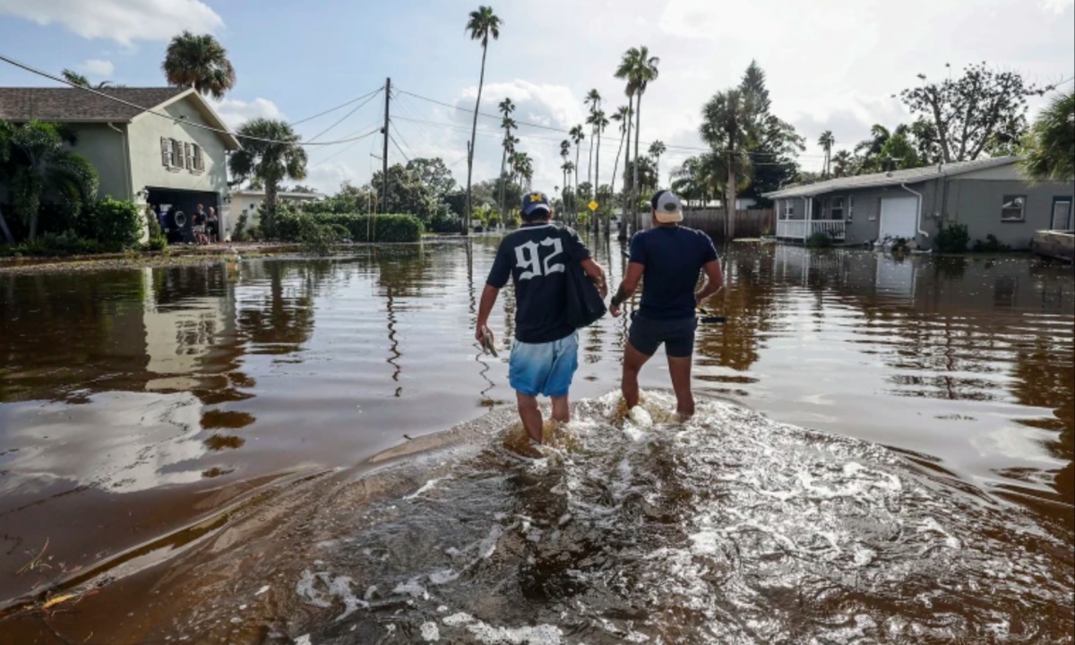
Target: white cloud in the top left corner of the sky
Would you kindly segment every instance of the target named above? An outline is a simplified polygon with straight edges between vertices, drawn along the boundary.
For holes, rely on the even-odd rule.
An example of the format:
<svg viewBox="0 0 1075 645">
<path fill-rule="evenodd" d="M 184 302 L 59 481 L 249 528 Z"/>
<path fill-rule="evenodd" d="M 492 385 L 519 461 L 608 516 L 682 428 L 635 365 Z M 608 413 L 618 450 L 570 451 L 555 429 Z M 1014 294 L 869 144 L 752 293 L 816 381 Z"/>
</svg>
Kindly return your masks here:
<svg viewBox="0 0 1075 645">
<path fill-rule="evenodd" d="M 177 32 L 215 32 L 224 19 L 201 0 L 0 0 L 0 14 L 62 25 L 87 39 L 168 40 Z"/>
</svg>

